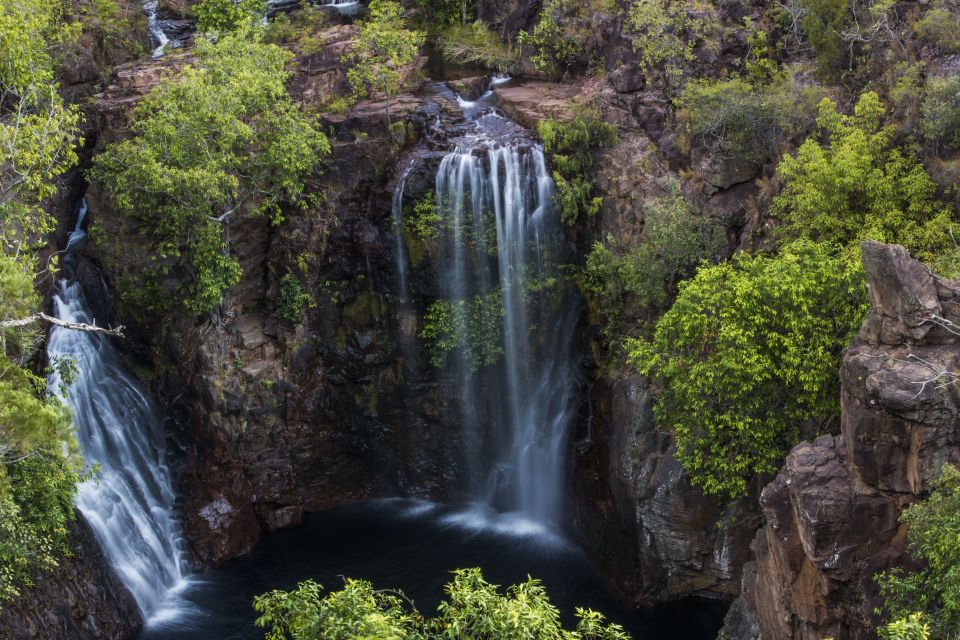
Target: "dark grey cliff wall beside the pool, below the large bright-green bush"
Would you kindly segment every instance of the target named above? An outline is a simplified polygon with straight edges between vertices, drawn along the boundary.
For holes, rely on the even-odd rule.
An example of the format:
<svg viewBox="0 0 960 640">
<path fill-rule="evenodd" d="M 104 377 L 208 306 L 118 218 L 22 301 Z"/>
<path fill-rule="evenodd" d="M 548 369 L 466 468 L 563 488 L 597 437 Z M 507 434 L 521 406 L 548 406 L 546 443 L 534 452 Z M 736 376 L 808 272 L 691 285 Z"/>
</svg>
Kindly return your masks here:
<svg viewBox="0 0 960 640">
<path fill-rule="evenodd" d="M 725 504 L 692 486 L 673 437 L 653 422 L 637 374 L 598 383 L 576 447 L 577 534 L 601 573 L 638 604 L 700 595 L 731 599 L 749 559 L 752 501 Z"/>
</svg>

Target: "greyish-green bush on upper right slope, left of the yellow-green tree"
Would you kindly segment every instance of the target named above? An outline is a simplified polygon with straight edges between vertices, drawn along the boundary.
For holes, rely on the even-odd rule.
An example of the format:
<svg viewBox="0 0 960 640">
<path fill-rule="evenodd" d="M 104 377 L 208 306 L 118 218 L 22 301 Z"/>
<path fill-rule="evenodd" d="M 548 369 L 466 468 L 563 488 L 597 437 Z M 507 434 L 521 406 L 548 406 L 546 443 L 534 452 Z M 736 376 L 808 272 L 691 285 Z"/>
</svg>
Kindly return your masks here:
<svg viewBox="0 0 960 640">
<path fill-rule="evenodd" d="M 691 142 L 724 158 L 762 164 L 809 126 L 823 93 L 784 73 L 771 76 L 767 84 L 741 78 L 694 80 L 675 103 Z"/>
</svg>

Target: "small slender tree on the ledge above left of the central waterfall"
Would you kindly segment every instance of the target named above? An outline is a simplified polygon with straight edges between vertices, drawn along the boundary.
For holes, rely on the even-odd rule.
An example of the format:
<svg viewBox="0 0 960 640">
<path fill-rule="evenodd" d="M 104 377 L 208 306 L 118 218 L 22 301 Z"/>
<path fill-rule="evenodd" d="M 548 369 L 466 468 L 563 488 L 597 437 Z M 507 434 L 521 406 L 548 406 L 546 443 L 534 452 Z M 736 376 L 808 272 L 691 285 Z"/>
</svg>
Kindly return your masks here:
<svg viewBox="0 0 960 640">
<path fill-rule="evenodd" d="M 361 23 L 353 50 L 343 56 L 343 61 L 351 65 L 347 81 L 354 99 L 384 94 L 389 122 L 390 102 L 401 89 L 403 68 L 420 55 L 425 37 L 422 31 L 407 28 L 403 7 L 398 3 L 371 0 L 370 16 Z"/>
</svg>

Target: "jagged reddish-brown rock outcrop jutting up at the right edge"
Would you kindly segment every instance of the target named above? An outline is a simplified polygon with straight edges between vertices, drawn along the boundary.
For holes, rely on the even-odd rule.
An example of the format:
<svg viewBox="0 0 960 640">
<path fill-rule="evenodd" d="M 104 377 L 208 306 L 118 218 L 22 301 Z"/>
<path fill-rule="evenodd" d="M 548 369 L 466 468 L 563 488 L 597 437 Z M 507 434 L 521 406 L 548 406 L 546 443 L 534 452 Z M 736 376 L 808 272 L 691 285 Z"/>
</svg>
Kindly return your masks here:
<svg viewBox="0 0 960 640">
<path fill-rule="evenodd" d="M 960 282 L 862 246 L 871 311 L 841 371 L 841 435 L 795 447 L 764 490 L 726 638 L 873 637 L 873 576 L 911 564 L 903 509 L 960 460 Z"/>
</svg>

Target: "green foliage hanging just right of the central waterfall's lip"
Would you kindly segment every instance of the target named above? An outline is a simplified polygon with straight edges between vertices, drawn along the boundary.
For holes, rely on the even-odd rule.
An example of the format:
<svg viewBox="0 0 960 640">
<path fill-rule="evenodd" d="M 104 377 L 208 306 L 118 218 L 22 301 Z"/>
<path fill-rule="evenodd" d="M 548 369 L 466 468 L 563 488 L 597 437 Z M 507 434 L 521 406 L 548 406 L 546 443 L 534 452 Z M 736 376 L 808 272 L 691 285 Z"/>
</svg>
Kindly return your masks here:
<svg viewBox="0 0 960 640">
<path fill-rule="evenodd" d="M 581 108 L 564 122 L 541 120 L 537 133 L 550 154 L 561 219 L 568 225 L 592 219 L 603 205 L 589 175 L 594 151 L 616 144 L 617 128 L 596 111 Z"/>
</svg>

